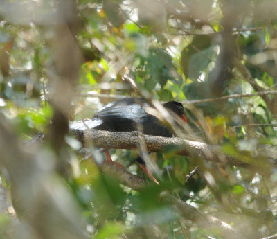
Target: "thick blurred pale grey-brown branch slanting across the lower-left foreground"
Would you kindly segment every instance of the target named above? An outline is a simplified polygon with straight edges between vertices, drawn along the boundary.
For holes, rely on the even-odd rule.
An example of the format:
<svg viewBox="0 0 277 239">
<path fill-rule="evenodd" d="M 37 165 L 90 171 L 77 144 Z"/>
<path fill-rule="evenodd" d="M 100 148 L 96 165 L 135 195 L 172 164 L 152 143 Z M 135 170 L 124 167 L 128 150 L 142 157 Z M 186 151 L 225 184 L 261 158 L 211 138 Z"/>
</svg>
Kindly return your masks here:
<svg viewBox="0 0 277 239">
<path fill-rule="evenodd" d="M 29 148 L 27 152 L 10 129 L 0 117 L 0 166 L 8 172 L 17 215 L 36 234 L 31 238 L 87 238 L 78 204 L 54 168 L 45 163 L 48 152 L 30 153 Z"/>
</svg>

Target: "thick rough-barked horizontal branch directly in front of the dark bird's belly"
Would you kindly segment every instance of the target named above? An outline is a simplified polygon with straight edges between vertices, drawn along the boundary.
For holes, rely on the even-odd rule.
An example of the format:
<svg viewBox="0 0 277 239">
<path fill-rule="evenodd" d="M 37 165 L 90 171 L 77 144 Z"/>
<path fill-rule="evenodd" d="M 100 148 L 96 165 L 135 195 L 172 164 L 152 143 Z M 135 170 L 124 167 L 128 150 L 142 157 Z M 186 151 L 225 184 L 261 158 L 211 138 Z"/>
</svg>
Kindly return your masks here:
<svg viewBox="0 0 277 239">
<path fill-rule="evenodd" d="M 116 148 L 133 150 L 139 145 L 139 132 L 108 132 L 101 130 L 71 130 L 78 139 L 89 145 L 93 143 L 99 148 Z M 223 154 L 220 147 L 206 143 L 189 141 L 179 138 L 166 138 L 145 135 L 145 145 L 148 152 L 161 152 L 174 146 L 179 155 L 206 159 L 208 161 L 224 162 L 235 166 L 245 166 L 247 163 L 230 155 Z M 272 159 L 274 161 L 274 159 Z"/>
</svg>

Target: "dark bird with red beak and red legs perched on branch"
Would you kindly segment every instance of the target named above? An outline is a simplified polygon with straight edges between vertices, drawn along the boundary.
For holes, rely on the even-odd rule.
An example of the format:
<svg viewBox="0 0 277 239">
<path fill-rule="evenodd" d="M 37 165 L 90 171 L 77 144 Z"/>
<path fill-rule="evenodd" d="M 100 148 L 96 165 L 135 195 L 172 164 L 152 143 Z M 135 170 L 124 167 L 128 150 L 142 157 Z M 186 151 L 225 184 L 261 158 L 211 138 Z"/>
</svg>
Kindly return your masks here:
<svg viewBox="0 0 277 239">
<path fill-rule="evenodd" d="M 177 101 L 168 101 L 163 104 L 163 107 L 165 107 L 170 114 L 173 113 L 187 123 L 186 116 L 184 115 L 184 107 L 181 103 Z M 171 137 L 174 135 L 170 127 L 161 123 L 157 116 L 151 112 L 151 109 L 153 108 L 148 100 L 144 98 L 127 97 L 104 105 L 93 115 L 91 120 L 75 122 L 70 125 L 70 128 L 74 130 L 85 130 L 89 128 L 111 132 L 141 131 L 143 134 L 163 137 Z M 105 154 L 107 157 L 106 163 L 114 163 L 117 166 L 123 167 L 111 160 L 108 150 L 105 151 Z M 141 168 L 148 177 L 156 182 L 156 184 L 159 184 L 157 179 L 155 179 L 152 173 L 146 168 L 143 159 L 139 157 L 137 161 L 139 161 Z"/>
</svg>

